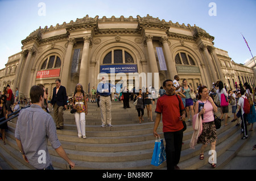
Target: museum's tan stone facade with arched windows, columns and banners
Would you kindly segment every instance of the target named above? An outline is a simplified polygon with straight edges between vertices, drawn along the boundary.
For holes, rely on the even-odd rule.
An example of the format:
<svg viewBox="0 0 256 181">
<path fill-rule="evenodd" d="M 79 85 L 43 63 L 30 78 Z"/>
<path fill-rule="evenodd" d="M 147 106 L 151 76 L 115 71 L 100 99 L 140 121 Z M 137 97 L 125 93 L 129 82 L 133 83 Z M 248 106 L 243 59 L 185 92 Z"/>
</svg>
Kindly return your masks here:
<svg viewBox="0 0 256 181">
<path fill-rule="evenodd" d="M 42 83 L 51 96 L 55 79 L 60 78 L 72 96 L 77 83 L 88 92 L 97 87 L 101 73 L 110 77 L 110 70 L 115 70 L 113 84 L 135 82 L 134 77 L 124 81 L 118 73 L 127 78 L 130 73 L 152 73 L 154 87 L 174 75 L 179 75 L 180 83 L 187 79 L 194 89 L 199 83 L 212 87 L 218 79 L 229 89 L 240 81 L 253 85 L 253 69 L 236 64 L 228 52 L 214 47 L 213 40 L 195 25 L 150 15 L 101 19 L 86 15 L 30 33 L 22 40 L 22 51 L 10 56 L 6 68 L 0 70 L 0 89 L 9 84 L 12 90 L 18 87 L 21 97 L 29 97 L 30 87 Z M 141 81 L 139 87 L 142 85 Z"/>
</svg>

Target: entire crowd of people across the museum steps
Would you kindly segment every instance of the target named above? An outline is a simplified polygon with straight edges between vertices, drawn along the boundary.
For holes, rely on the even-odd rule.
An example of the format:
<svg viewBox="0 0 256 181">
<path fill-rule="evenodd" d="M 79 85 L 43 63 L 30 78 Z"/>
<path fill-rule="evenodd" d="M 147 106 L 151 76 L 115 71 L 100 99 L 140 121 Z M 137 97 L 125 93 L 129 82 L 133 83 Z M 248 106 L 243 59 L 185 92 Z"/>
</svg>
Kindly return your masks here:
<svg viewBox="0 0 256 181">
<path fill-rule="evenodd" d="M 228 125 L 228 113 L 229 105 L 232 106 L 233 120 L 236 121 L 236 126 L 240 126 L 241 119 L 241 132 L 243 133 L 242 139 L 248 137 L 247 126 L 251 125 L 249 131 L 253 131 L 253 124 L 256 121 L 256 112 L 254 107 L 255 102 L 255 92 L 251 88 L 249 83 L 245 82 L 242 86 L 236 83 L 236 88 L 234 90 L 227 90 L 225 83 L 222 81 L 217 81 L 213 83 L 213 87 L 206 87 L 199 85 L 194 90 L 193 87 L 189 86 L 187 79 L 183 79 L 182 83 L 179 82 L 180 78 L 175 75 L 174 81 L 167 79 L 163 82 L 163 86 L 160 87 L 159 91 L 156 91 L 154 87 L 142 87 L 142 89 L 129 91 L 127 87 L 122 87 L 121 91 L 114 93 L 112 98 L 112 90 L 115 89 L 115 85 L 106 82 L 106 78 L 103 76 L 101 82 L 98 83 L 97 88 L 93 86 L 91 92 L 86 94 L 82 88 L 82 85 L 78 83 L 75 87 L 75 92 L 72 98 L 68 98 L 67 91 L 64 86 L 61 85 L 60 79 L 56 79 L 56 87 L 53 88 L 52 96 L 48 98 L 47 90 L 43 85 L 33 86 L 30 90 L 30 100 L 27 101 L 26 98 L 18 101 L 18 88 L 16 88 L 15 95 L 7 85 L 6 89 L 1 92 L 1 103 L 0 103 L 0 118 L 6 117 L 11 112 L 19 110 L 19 104 L 25 104 L 25 106 L 30 105 L 29 109 L 22 111 L 20 113 L 16 130 L 15 137 L 16 142 L 19 146 L 20 153 L 26 162 L 30 162 L 36 169 L 53 169 L 51 160 L 49 158 L 48 150 L 46 147 L 46 141 L 44 134 L 51 138 L 50 142 L 55 148 L 56 152 L 65 161 L 71 165 L 75 166 L 65 154 L 64 149 L 61 147 L 59 140 L 57 139 L 56 129 L 64 128 L 63 111 L 71 110 L 74 113 L 77 134 L 79 138 L 86 138 L 85 132 L 85 115 L 88 113 L 88 101 L 91 103 L 97 103 L 97 106 L 101 110 L 101 127 L 113 127 L 112 125 L 112 114 L 111 107 L 112 101 L 121 101 L 123 103 L 123 108 L 131 108 L 130 100 L 133 101 L 133 106 L 138 112 L 138 123 L 141 124 L 144 121 L 144 110 L 147 110 L 147 120 L 154 123 L 153 134 L 155 137 L 160 135 L 156 132 L 159 122 L 162 116 L 163 122 L 163 132 L 164 139 L 166 140 L 166 157 L 167 157 L 167 169 L 179 169 L 177 164 L 179 163 L 181 146 L 183 145 L 183 131 L 185 122 L 191 122 L 193 128 L 195 125 L 199 129 L 195 129 L 193 136 L 191 138 L 191 148 L 194 148 L 195 144 L 201 144 L 199 159 L 204 159 L 204 150 L 208 144 L 210 144 L 210 149 L 215 150 L 217 131 L 214 124 L 214 114 L 220 108 L 220 119 L 224 121 L 224 127 Z M 14 100 L 13 100 L 14 99 Z M 156 102 L 156 118 L 153 120 L 152 116 L 152 104 Z M 250 104 L 250 112 L 246 113 L 245 104 L 246 102 Z M 52 119 L 49 114 L 44 113 L 42 115 L 41 110 L 44 112 L 49 112 L 49 106 L 53 107 L 53 117 Z M 41 110 L 40 110 L 40 109 Z M 42 109 L 43 108 L 43 109 Z M 30 117 L 31 112 L 38 112 L 35 117 Z M 41 112 L 41 113 L 40 113 Z M 178 113 L 177 113 L 178 112 Z M 28 119 L 27 123 L 23 123 L 23 118 Z M 32 125 L 36 119 L 43 119 L 47 127 L 43 127 L 41 124 Z M 53 121 L 54 120 L 54 121 Z M 55 125 L 56 129 L 49 128 Z M 29 133 L 27 127 L 35 127 L 40 134 L 36 135 L 36 139 L 42 141 L 41 145 L 36 145 L 34 149 L 42 149 L 47 151 L 47 163 L 46 165 L 38 165 L 35 162 L 35 154 L 26 154 L 31 151 L 28 145 L 31 144 L 31 139 L 28 137 L 33 137 L 36 133 Z M 7 123 L 0 126 L 2 140 L 5 144 L 5 130 L 7 129 Z M 43 131 L 46 129 L 47 132 Z M 28 139 L 28 140 L 26 140 Z M 36 156 L 37 158 L 38 156 Z M 209 162 L 214 168 L 216 167 L 216 162 L 212 159 Z"/>
</svg>

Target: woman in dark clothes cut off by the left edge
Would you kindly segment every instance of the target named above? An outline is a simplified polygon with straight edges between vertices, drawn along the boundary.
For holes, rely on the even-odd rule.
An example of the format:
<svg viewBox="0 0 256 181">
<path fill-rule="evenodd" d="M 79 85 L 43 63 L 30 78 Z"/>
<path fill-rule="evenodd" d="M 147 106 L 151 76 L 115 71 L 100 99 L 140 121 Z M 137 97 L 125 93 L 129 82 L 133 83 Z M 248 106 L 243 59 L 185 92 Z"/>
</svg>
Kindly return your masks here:
<svg viewBox="0 0 256 181">
<path fill-rule="evenodd" d="M 5 95 L 1 95 L 1 103 L 0 103 L 0 119 L 2 119 L 3 117 L 5 117 L 6 119 L 8 119 L 8 113 L 7 113 L 7 107 L 6 107 L 6 96 Z M 6 119 L 2 120 L 5 121 Z M 1 121 L 1 122 L 2 122 Z M 5 129 L 7 129 L 7 122 L 4 124 L 0 125 L 0 130 L 2 133 L 2 139 L 3 139 L 3 144 L 5 145 Z"/>
</svg>

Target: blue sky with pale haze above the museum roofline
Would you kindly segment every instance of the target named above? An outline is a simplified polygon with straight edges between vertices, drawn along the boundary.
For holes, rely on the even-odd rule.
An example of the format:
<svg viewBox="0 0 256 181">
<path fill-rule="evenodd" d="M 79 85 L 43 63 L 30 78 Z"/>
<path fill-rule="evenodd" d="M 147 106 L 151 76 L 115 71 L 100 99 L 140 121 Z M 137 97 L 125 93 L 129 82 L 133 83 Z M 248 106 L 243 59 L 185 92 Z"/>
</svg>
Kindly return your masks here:
<svg viewBox="0 0 256 181">
<path fill-rule="evenodd" d="M 0 0 L 0 69 L 8 57 L 22 50 L 21 41 L 40 26 L 75 22 L 86 15 L 137 18 L 149 14 L 166 22 L 196 24 L 214 36 L 214 47 L 226 50 L 237 64 L 245 64 L 251 53 L 256 56 L 255 8 L 256 0 Z"/>
</svg>

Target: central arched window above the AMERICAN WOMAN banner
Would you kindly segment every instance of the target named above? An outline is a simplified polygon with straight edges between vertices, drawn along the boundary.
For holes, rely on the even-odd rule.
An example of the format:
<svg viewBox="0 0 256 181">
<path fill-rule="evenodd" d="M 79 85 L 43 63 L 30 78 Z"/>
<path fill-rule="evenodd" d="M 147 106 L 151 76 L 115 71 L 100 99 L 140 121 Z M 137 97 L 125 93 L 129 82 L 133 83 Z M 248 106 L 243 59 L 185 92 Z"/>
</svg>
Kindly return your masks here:
<svg viewBox="0 0 256 181">
<path fill-rule="evenodd" d="M 112 62 L 113 60 L 113 62 Z M 103 64 L 133 64 L 133 57 L 125 50 L 112 50 L 103 59 Z"/>
</svg>

